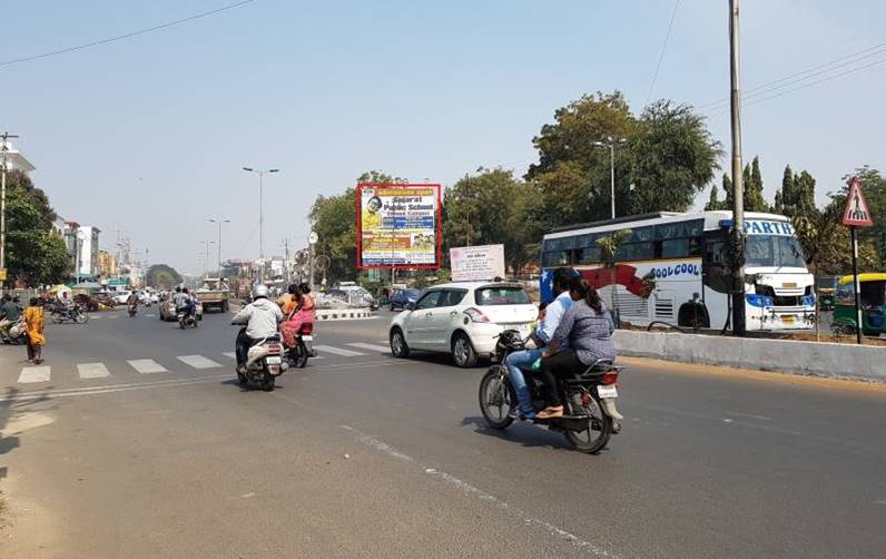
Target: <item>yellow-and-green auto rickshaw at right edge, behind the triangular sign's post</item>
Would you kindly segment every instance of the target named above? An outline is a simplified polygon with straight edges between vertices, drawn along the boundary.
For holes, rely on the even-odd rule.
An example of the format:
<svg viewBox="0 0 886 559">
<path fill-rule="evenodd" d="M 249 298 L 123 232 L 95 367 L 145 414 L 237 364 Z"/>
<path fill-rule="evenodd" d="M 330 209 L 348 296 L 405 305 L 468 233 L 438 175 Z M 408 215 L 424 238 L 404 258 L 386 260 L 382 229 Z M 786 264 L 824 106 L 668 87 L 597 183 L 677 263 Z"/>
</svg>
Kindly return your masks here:
<svg viewBox="0 0 886 559">
<path fill-rule="evenodd" d="M 862 308 L 862 333 L 866 336 L 886 334 L 886 274 L 858 274 L 862 286 L 859 306 Z M 856 331 L 855 282 L 851 275 L 837 282 L 834 305 L 834 331 L 851 333 Z"/>
</svg>

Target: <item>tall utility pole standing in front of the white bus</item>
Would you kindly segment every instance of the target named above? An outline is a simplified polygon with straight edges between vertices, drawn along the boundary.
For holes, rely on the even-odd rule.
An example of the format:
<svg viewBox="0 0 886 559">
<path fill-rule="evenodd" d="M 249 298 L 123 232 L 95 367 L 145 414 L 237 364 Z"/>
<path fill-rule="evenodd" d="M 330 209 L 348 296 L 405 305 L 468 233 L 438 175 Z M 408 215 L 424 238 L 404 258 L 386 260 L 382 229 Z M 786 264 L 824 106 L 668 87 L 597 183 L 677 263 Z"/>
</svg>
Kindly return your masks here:
<svg viewBox="0 0 886 559">
<path fill-rule="evenodd" d="M 732 116 L 732 251 L 736 288 L 732 291 L 732 332 L 745 335 L 745 185 L 741 182 L 741 95 L 738 0 L 729 0 L 729 68 Z"/>
</svg>

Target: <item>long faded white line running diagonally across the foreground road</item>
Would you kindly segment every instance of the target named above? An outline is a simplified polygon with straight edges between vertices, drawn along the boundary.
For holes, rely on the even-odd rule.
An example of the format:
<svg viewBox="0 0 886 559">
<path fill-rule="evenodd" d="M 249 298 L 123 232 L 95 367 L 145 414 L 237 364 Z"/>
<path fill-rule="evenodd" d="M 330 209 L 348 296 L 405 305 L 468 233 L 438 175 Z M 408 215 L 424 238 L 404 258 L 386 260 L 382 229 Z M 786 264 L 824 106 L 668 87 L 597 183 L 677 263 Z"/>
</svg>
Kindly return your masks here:
<svg viewBox="0 0 886 559">
<path fill-rule="evenodd" d="M 503 500 L 499 499 L 494 494 L 488 493 L 486 491 L 483 491 L 482 489 L 479 489 L 479 488 L 472 486 L 471 483 L 469 483 L 466 481 L 463 481 L 463 480 L 461 480 L 461 479 L 459 479 L 459 478 L 456 478 L 456 477 L 454 477 L 454 475 L 452 475 L 450 473 L 446 473 L 446 472 L 444 472 L 442 470 L 437 470 L 436 468 L 430 468 L 430 467 L 426 467 L 426 465 L 422 465 L 414 458 L 412 458 L 410 455 L 406 455 L 406 454 L 404 454 L 402 452 L 398 452 L 396 449 L 394 449 L 393 447 L 391 447 L 386 442 L 381 441 L 381 440 L 378 440 L 378 439 L 376 439 L 376 438 L 374 438 L 374 437 L 372 437 L 370 434 L 366 434 L 366 433 L 364 433 L 364 432 L 362 432 L 362 431 L 360 431 L 357 429 L 354 429 L 351 425 L 341 425 L 341 428 L 344 429 L 345 431 L 350 431 L 352 434 L 354 434 L 356 437 L 357 441 L 360 441 L 361 443 L 363 443 L 363 444 L 365 444 L 367 447 L 371 447 L 371 448 L 377 450 L 378 452 L 387 454 L 391 458 L 395 458 L 397 460 L 402 460 L 402 461 L 404 461 L 404 462 L 406 462 L 408 464 L 412 464 L 413 467 L 419 468 L 425 474 L 427 474 L 430 477 L 433 477 L 433 478 L 437 478 L 437 479 L 442 480 L 445 484 L 457 489 L 465 497 L 470 497 L 470 498 L 474 498 L 474 499 L 479 499 L 481 501 L 484 501 L 484 502 L 489 503 L 490 506 L 495 507 L 496 509 L 501 510 L 503 513 L 511 514 L 511 516 L 515 517 L 516 519 L 519 519 L 521 522 L 523 522 L 526 526 L 535 526 L 536 528 L 540 528 L 541 530 L 548 532 L 550 536 L 553 536 L 555 538 L 560 538 L 560 539 L 569 541 L 574 547 L 579 548 L 580 550 L 582 550 L 582 551 L 584 551 L 584 552 L 587 552 L 587 553 L 589 553 L 591 556 L 594 556 L 594 557 L 609 557 L 611 559 L 617 559 L 619 557 L 616 553 L 607 550 L 606 548 L 600 547 L 597 543 L 591 543 L 590 541 L 582 540 L 581 538 L 579 538 L 574 533 L 568 532 L 568 531 L 563 530 L 562 528 L 559 528 L 559 527 L 548 522 L 544 519 L 540 519 L 540 518 L 533 517 L 533 516 L 531 516 L 530 513 L 528 513 L 528 512 L 525 512 L 523 510 L 520 510 L 520 509 L 518 509 L 515 507 L 512 507 L 506 501 L 503 501 Z"/>
</svg>

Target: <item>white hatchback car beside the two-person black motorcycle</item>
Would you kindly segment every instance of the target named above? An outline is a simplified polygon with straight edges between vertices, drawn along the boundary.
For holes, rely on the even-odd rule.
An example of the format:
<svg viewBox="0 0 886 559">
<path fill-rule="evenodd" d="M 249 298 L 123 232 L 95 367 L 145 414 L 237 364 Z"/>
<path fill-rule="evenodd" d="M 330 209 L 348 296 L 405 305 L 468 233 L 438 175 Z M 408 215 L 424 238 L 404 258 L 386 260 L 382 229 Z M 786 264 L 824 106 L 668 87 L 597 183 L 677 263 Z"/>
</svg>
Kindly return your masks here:
<svg viewBox="0 0 886 559">
<path fill-rule="evenodd" d="M 528 336 L 538 314 L 520 284 L 435 285 L 391 321 L 391 353 L 407 357 L 412 350 L 445 352 L 457 366 L 474 366 L 478 359 L 495 352 L 501 332 L 516 330 Z"/>
</svg>

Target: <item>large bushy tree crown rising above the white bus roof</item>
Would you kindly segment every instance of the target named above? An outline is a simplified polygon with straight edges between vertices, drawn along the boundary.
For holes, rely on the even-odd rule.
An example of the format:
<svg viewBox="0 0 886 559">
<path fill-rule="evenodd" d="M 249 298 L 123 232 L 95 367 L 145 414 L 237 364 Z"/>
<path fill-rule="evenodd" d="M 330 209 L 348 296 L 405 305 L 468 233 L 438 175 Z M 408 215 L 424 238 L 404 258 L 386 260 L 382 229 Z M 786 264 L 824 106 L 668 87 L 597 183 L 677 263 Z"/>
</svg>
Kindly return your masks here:
<svg viewBox="0 0 886 559">
<path fill-rule="evenodd" d="M 688 209 L 720 156 L 703 118 L 667 100 L 636 118 L 619 91 L 598 92 L 554 119 L 533 139 L 539 163 L 525 176 L 538 189 L 540 220 L 552 226 L 610 216 L 610 151 L 594 143 L 626 140 L 616 147 L 619 215 Z"/>
</svg>

